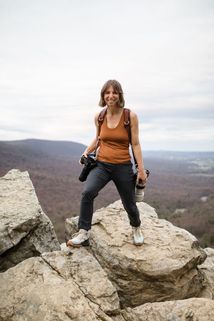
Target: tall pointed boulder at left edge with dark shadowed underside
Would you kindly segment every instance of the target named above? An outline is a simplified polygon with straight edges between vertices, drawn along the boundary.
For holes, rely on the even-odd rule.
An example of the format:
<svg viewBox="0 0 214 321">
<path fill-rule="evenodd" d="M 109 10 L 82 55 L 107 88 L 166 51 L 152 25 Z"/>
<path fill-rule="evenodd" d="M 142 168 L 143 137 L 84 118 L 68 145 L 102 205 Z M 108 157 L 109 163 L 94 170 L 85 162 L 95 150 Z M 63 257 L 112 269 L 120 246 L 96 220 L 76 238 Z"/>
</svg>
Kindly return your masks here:
<svg viewBox="0 0 214 321">
<path fill-rule="evenodd" d="M 0 178 L 0 272 L 43 252 L 60 250 L 53 225 L 42 212 L 28 172 Z"/>
</svg>

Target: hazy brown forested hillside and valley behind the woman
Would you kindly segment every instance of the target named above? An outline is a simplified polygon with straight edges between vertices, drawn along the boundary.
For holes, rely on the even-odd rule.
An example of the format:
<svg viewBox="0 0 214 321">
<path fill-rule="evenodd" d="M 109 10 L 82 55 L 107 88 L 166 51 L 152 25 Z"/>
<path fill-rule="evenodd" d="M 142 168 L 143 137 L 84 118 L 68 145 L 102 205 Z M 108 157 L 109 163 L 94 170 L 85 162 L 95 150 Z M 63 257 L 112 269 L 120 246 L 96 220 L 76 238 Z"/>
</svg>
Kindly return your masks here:
<svg viewBox="0 0 214 321">
<path fill-rule="evenodd" d="M 78 159 L 86 146 L 74 142 L 0 142 L 0 176 L 10 169 L 27 170 L 39 203 L 51 219 L 57 237 L 64 242 L 66 218 L 79 215 L 84 183 L 78 180 Z M 201 247 L 214 245 L 213 152 L 142 151 L 150 176 L 144 202 L 158 217 L 191 232 Z M 132 154 L 131 154 L 132 155 Z M 94 201 L 94 211 L 120 196 L 113 182 Z M 142 222 L 143 230 L 143 222 Z"/>
</svg>

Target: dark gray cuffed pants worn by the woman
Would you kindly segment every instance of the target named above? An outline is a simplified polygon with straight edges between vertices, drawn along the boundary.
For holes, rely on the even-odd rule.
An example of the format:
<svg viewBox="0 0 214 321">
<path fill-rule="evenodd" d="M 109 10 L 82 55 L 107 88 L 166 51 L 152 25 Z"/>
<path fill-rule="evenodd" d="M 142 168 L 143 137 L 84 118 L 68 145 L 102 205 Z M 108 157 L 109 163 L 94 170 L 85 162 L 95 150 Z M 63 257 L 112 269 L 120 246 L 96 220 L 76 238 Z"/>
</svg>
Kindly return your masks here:
<svg viewBox="0 0 214 321">
<path fill-rule="evenodd" d="M 141 225 L 140 213 L 135 202 L 135 185 L 131 160 L 121 164 L 97 160 L 97 166 L 90 170 L 86 179 L 80 203 L 78 229 L 90 230 L 93 216 L 94 198 L 98 192 L 113 180 L 120 194 L 124 209 L 128 214 L 130 225 Z"/>
</svg>

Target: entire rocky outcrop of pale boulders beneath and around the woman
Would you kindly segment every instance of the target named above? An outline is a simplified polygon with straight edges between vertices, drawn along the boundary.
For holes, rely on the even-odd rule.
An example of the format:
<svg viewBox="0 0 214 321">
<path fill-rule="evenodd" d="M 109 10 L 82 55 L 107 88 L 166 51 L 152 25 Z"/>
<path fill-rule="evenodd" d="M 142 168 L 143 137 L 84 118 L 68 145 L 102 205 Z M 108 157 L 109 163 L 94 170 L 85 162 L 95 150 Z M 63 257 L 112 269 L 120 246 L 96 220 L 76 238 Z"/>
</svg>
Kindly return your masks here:
<svg viewBox="0 0 214 321">
<path fill-rule="evenodd" d="M 148 204 L 137 204 L 141 247 L 120 200 L 94 213 L 90 247 L 60 247 L 27 172 L 0 178 L 0 201 L 0 320 L 214 319 L 214 250 Z M 77 222 L 66 220 L 66 241 Z"/>
</svg>

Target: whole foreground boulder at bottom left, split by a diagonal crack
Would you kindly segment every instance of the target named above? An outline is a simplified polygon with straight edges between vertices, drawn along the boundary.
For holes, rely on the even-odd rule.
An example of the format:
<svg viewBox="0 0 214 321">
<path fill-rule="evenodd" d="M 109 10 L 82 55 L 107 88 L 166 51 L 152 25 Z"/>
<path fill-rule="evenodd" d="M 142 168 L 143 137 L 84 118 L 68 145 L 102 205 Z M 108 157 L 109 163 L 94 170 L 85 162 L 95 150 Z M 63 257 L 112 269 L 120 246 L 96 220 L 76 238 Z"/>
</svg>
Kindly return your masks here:
<svg viewBox="0 0 214 321">
<path fill-rule="evenodd" d="M 31 257 L 0 274 L 0 320 L 113 321 L 116 289 L 84 248 Z"/>
</svg>

